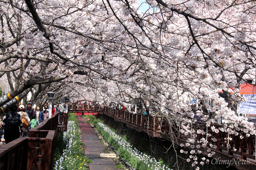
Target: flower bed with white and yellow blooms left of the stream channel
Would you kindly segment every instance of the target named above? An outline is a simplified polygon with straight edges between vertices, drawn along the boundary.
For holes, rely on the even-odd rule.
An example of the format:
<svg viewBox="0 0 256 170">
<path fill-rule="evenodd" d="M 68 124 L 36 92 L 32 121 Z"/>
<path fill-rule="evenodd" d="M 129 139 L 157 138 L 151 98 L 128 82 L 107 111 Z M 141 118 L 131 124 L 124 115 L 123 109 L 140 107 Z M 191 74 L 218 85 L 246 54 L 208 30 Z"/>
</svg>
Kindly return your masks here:
<svg viewBox="0 0 256 170">
<path fill-rule="evenodd" d="M 79 126 L 75 113 L 68 114 L 68 128 L 67 132 L 63 133 L 63 140 L 66 144 L 62 155 L 57 155 L 54 158 L 54 169 L 86 169 L 85 163 L 92 162 L 89 160 L 83 150 L 83 143 L 80 142 L 81 133 L 78 131 Z M 61 142 L 60 142 L 61 143 Z M 57 148 L 58 150 L 58 148 Z"/>
</svg>

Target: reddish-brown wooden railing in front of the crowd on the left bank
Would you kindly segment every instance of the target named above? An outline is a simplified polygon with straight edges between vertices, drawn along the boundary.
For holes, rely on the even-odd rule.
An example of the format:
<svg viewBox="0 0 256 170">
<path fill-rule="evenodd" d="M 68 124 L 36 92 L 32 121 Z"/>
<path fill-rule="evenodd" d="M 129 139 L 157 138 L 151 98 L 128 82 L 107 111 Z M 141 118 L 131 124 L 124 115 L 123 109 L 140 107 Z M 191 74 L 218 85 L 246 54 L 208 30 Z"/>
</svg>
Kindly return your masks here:
<svg viewBox="0 0 256 170">
<path fill-rule="evenodd" d="M 51 170 L 54 139 L 57 132 L 67 131 L 67 118 L 67 113 L 55 113 L 30 129 L 28 138 L 20 137 L 1 146 L 0 170 Z"/>
</svg>

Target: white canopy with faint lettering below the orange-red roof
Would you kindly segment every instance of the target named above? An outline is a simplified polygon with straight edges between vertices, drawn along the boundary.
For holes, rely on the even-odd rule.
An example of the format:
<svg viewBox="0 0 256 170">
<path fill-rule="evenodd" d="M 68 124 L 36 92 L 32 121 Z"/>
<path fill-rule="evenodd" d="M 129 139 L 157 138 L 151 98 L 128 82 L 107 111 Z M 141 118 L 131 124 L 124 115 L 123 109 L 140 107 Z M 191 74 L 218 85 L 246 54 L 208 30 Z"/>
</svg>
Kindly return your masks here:
<svg viewBox="0 0 256 170">
<path fill-rule="evenodd" d="M 241 102 L 237 113 L 256 114 L 256 94 L 244 94 L 248 98 L 247 102 Z"/>
</svg>

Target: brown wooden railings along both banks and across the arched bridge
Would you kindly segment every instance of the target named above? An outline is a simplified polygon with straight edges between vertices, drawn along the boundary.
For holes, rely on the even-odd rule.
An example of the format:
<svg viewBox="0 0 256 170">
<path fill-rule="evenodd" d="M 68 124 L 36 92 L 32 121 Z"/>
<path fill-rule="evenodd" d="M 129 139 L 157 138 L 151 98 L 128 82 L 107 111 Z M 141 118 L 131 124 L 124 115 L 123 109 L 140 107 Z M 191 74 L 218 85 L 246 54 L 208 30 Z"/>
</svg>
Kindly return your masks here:
<svg viewBox="0 0 256 170">
<path fill-rule="evenodd" d="M 169 123 L 168 119 L 160 116 L 145 116 L 143 114 L 135 114 L 122 110 L 115 110 L 109 107 L 100 107 L 96 103 L 90 104 L 70 104 L 68 105 L 68 113 L 98 113 L 105 114 L 113 118 L 117 122 L 125 123 L 138 132 L 147 133 L 151 137 L 159 137 L 176 144 L 186 144 L 187 139 L 192 138 L 192 134 L 184 135 L 179 133 L 177 124 Z M 29 131 L 28 138 L 18 138 L 6 145 L 0 147 L 0 170 L 16 170 L 16 169 L 52 169 L 53 144 L 57 132 L 67 130 L 67 113 L 64 114 L 64 122 L 60 123 L 62 115 L 56 113 L 52 118 L 46 119 L 39 126 Z M 218 124 L 211 124 L 218 127 Z M 207 129 L 205 123 L 195 123 L 191 128 L 203 130 L 204 135 L 199 135 L 196 141 L 206 138 L 208 141 L 207 148 L 216 152 L 214 158 L 221 157 L 222 160 L 238 159 L 240 161 L 248 160 L 249 164 L 231 164 L 238 169 L 255 169 L 255 136 L 246 137 L 244 133 L 243 139 L 239 136 L 229 135 L 225 132 L 215 133 L 211 129 Z M 217 141 L 213 141 L 211 137 L 215 137 Z M 225 138 L 231 137 L 229 141 L 231 148 L 227 148 Z M 197 144 L 197 143 L 196 143 Z M 198 143 L 199 144 L 199 143 Z M 217 148 L 211 148 L 210 145 L 216 145 Z M 202 152 L 202 154 L 206 154 Z M 236 151 L 234 151 L 236 149 Z M 202 150 L 202 149 L 201 149 Z"/>
</svg>

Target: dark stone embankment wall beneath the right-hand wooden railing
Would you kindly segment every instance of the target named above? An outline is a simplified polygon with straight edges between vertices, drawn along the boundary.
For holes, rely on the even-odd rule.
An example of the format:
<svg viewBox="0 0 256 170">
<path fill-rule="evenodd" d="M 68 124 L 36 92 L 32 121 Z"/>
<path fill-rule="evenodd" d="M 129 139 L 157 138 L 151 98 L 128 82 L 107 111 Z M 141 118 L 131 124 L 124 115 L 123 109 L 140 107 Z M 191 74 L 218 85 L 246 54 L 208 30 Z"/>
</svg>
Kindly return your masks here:
<svg viewBox="0 0 256 170">
<path fill-rule="evenodd" d="M 147 133 L 137 132 L 133 129 L 126 127 L 125 123 L 116 122 L 113 118 L 108 117 L 104 114 L 96 115 L 97 118 L 101 119 L 105 122 L 106 125 L 116 130 L 117 134 L 124 134 L 130 143 L 137 148 L 141 152 L 145 152 L 150 156 L 159 159 L 162 158 L 165 162 L 169 162 L 172 167 L 170 169 L 176 170 L 193 170 L 196 167 L 192 167 L 191 162 L 187 162 L 188 155 L 184 153 L 180 153 L 180 150 L 186 150 L 186 148 L 182 148 L 180 146 L 174 146 L 173 143 L 163 140 L 157 137 L 150 137 Z M 177 155 L 176 155 L 177 153 Z M 204 157 L 203 155 L 201 158 Z M 207 158 L 207 157 L 206 157 Z M 200 169 L 207 170 L 235 170 L 235 167 L 227 167 L 228 165 L 224 164 L 215 164 L 215 160 L 208 158 L 210 160 L 209 164 L 204 164 L 203 166 L 199 166 Z M 177 161 L 178 160 L 178 161 Z M 198 164 L 202 159 L 198 157 Z M 213 164 L 211 164 L 211 161 Z"/>
</svg>

